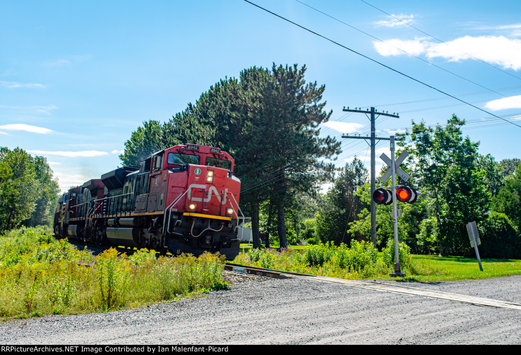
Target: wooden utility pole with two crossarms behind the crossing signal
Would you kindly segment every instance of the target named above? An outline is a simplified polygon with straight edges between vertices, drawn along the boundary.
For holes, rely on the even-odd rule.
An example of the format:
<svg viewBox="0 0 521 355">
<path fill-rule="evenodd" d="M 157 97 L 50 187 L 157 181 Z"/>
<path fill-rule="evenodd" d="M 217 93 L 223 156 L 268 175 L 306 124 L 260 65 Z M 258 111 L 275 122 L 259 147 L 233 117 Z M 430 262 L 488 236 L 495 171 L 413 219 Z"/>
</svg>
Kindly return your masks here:
<svg viewBox="0 0 521 355">
<path fill-rule="evenodd" d="M 385 111 L 385 112 L 378 112 L 377 110 L 375 110 L 374 107 L 371 107 L 371 111 L 369 111 L 369 109 L 367 109 L 367 111 L 362 111 L 359 107 L 355 107 L 354 110 L 350 110 L 349 107 L 348 108 L 343 108 L 344 112 L 357 112 L 357 113 L 365 113 L 365 115 L 367 116 L 368 113 L 371 114 L 371 117 L 367 116 L 367 118 L 369 119 L 369 121 L 371 121 L 371 136 L 370 137 L 361 137 L 360 135 L 356 136 L 349 136 L 349 135 L 343 135 L 342 138 L 356 138 L 356 139 L 362 139 L 362 140 L 370 140 L 370 147 L 371 147 L 371 242 L 373 242 L 373 245 L 375 246 L 376 248 L 376 203 L 375 201 L 373 201 L 373 194 L 375 193 L 375 181 L 376 181 L 376 172 L 375 172 L 375 169 L 376 169 L 376 162 L 375 162 L 375 146 L 376 146 L 376 141 L 380 141 L 380 140 L 384 140 L 384 141 L 389 141 L 390 138 L 380 138 L 380 137 L 377 137 L 375 132 L 376 132 L 376 128 L 375 128 L 375 121 L 376 119 L 379 117 L 379 116 L 389 116 L 389 117 L 394 117 L 394 118 L 400 118 L 400 116 L 398 116 L 398 113 L 396 113 L 396 115 L 394 113 L 388 113 L 388 111 Z M 378 115 L 378 116 L 376 116 Z"/>
</svg>

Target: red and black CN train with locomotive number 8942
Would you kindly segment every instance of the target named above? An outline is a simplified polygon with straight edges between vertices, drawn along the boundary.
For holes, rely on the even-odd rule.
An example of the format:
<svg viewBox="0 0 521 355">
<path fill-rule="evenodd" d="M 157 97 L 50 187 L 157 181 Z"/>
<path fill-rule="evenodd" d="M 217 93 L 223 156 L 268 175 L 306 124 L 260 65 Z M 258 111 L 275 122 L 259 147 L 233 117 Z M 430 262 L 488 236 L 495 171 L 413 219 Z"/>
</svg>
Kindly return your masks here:
<svg viewBox="0 0 521 355">
<path fill-rule="evenodd" d="M 57 236 L 175 255 L 239 253 L 234 161 L 219 148 L 177 145 L 139 167 L 122 167 L 71 188 L 54 215 Z M 244 216 L 241 217 L 244 219 Z"/>
</svg>

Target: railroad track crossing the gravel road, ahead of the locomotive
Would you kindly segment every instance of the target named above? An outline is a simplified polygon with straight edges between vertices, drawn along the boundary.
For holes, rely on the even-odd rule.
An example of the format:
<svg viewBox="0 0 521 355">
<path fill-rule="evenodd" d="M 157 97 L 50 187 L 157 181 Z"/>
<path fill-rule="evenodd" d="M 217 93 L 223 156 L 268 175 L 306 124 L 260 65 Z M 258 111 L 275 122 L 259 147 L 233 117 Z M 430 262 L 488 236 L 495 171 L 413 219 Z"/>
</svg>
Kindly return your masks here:
<svg viewBox="0 0 521 355">
<path fill-rule="evenodd" d="M 482 306 L 482 307 L 495 307 L 495 308 L 503 308 L 503 309 L 512 309 L 521 311 L 521 305 L 518 303 L 505 302 L 495 299 L 489 298 L 481 298 L 474 296 L 466 296 L 453 294 L 449 292 L 437 291 L 437 290 L 428 290 L 424 288 L 416 288 L 402 285 L 391 285 L 381 282 L 371 282 L 371 281 L 357 281 L 357 280 L 345 280 L 343 278 L 335 278 L 328 276 L 317 276 L 317 275 L 309 275 L 309 274 L 301 274 L 296 272 L 289 271 L 280 271 L 280 270 L 272 270 L 272 269 L 264 269 L 264 268 L 256 268 L 247 265 L 239 265 L 239 264 L 226 264 L 226 269 L 249 273 L 255 275 L 276 277 L 276 278 L 286 278 L 286 277 L 296 277 L 296 278 L 307 278 L 308 280 L 320 281 L 320 282 L 329 282 L 329 283 L 337 283 L 343 284 L 353 287 L 360 287 L 366 289 L 372 289 L 376 291 L 386 291 L 393 292 L 398 294 L 406 294 L 406 295 L 416 295 L 416 296 L 424 296 L 430 298 L 438 298 L 444 299 L 448 301 L 468 303 L 470 305 Z"/>
</svg>

